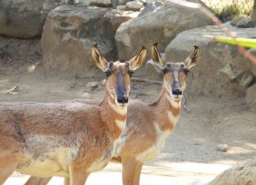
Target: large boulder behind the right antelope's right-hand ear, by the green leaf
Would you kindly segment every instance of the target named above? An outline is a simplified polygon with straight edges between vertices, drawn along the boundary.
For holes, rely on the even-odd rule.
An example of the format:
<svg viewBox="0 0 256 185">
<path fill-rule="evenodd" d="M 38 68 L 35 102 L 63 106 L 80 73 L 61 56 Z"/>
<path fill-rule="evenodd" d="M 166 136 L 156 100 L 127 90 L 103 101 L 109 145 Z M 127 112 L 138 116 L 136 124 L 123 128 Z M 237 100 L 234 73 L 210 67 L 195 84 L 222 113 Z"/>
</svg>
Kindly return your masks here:
<svg viewBox="0 0 256 185">
<path fill-rule="evenodd" d="M 228 28 L 239 37 L 256 37 L 256 28 Z M 189 74 L 187 92 L 217 97 L 245 95 L 255 78 L 250 69 L 251 62 L 239 54 L 236 46 L 217 43 L 216 35 L 224 35 L 217 26 L 183 31 L 166 48 L 166 61 L 184 61 L 197 45 L 201 59 Z"/>
</svg>

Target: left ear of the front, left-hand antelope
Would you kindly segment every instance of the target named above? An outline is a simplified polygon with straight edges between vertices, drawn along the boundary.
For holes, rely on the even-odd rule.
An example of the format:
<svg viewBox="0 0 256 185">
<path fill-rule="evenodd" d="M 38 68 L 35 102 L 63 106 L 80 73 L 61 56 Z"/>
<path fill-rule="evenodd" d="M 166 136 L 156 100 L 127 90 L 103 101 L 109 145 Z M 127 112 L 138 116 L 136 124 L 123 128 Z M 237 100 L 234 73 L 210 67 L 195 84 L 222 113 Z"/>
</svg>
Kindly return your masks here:
<svg viewBox="0 0 256 185">
<path fill-rule="evenodd" d="M 92 62 L 102 71 L 105 71 L 107 68 L 107 60 L 100 54 L 97 44 L 92 46 Z"/>
</svg>

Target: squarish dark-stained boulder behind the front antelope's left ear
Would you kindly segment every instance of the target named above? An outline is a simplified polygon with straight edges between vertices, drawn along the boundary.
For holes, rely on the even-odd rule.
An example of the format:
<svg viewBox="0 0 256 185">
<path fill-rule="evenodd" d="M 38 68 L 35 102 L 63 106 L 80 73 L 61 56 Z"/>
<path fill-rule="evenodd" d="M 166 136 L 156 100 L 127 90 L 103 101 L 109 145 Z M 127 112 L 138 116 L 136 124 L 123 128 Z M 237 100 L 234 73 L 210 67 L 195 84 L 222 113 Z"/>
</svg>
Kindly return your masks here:
<svg viewBox="0 0 256 185">
<path fill-rule="evenodd" d="M 92 46 L 97 43 L 107 59 L 116 59 L 115 31 L 133 16 L 137 14 L 118 9 L 58 6 L 48 14 L 44 26 L 43 65 L 92 75 Z"/>
</svg>

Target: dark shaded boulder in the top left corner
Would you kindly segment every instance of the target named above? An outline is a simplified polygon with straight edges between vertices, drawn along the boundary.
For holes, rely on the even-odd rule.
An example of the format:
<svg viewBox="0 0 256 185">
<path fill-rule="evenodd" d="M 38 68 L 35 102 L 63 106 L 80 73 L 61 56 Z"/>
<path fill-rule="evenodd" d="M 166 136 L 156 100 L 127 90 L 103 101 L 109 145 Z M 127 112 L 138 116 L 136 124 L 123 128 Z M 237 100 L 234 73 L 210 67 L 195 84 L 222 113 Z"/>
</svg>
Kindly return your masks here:
<svg viewBox="0 0 256 185">
<path fill-rule="evenodd" d="M 0 35 L 31 39 L 40 37 L 47 13 L 70 0 L 1 0 Z"/>
</svg>

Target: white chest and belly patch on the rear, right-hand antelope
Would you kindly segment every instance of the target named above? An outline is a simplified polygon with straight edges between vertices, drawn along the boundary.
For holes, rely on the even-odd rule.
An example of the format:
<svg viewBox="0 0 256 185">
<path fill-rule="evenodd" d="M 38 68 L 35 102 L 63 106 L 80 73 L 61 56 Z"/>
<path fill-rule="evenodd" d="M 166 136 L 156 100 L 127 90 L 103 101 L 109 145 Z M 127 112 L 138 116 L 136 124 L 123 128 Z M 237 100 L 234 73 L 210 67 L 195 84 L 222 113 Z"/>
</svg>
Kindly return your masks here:
<svg viewBox="0 0 256 185">
<path fill-rule="evenodd" d="M 145 150 L 143 153 L 136 157 L 137 161 L 141 161 L 144 163 L 145 161 L 151 161 L 156 158 L 156 156 L 160 153 L 162 148 L 164 147 L 165 140 L 171 134 L 171 130 L 161 131 L 158 124 L 154 124 L 156 128 L 156 133 L 158 135 L 158 139 L 156 140 L 155 145 L 150 147 L 148 150 Z"/>
</svg>

